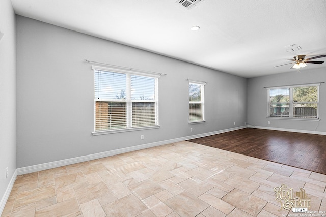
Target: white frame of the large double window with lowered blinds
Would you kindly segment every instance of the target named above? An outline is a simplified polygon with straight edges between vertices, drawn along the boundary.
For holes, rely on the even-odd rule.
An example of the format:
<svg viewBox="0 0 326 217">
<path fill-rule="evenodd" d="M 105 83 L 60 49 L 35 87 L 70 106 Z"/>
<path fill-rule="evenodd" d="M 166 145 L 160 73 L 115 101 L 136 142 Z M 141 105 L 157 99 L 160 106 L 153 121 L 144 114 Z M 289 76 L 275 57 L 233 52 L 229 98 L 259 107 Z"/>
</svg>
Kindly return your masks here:
<svg viewBox="0 0 326 217">
<path fill-rule="evenodd" d="M 116 73 L 123 73 L 126 74 L 126 92 L 127 92 L 127 99 L 126 100 L 107 100 L 107 99 L 95 99 L 94 98 L 94 110 L 93 110 L 93 132 L 92 134 L 95 135 L 102 135 L 102 134 L 111 134 L 111 133 L 120 133 L 120 132 L 128 132 L 128 131 L 138 131 L 138 130 L 145 130 L 145 129 L 155 129 L 159 128 L 159 113 L 158 113 L 158 80 L 160 78 L 160 75 L 157 74 L 151 74 L 151 73 L 144 73 L 144 72 L 135 72 L 131 70 L 125 70 L 125 69 L 118 69 L 118 68 L 107 68 L 107 67 L 100 67 L 100 66 L 92 66 L 93 70 L 93 90 L 95 96 L 95 70 L 100 70 L 100 71 L 106 71 L 106 72 L 116 72 Z M 155 96 L 154 100 L 131 100 L 131 82 L 130 82 L 130 77 L 132 75 L 137 75 L 137 76 L 143 76 L 143 77 L 149 77 L 149 78 L 154 78 L 155 79 Z M 127 106 L 127 127 L 126 128 L 119 128 L 119 129 L 105 129 L 105 130 L 95 130 L 95 112 L 96 112 L 96 101 L 102 101 L 102 102 L 126 102 Z M 155 103 L 155 125 L 152 126 L 142 126 L 142 127 L 132 127 L 132 103 L 133 102 L 154 102 Z"/>
</svg>

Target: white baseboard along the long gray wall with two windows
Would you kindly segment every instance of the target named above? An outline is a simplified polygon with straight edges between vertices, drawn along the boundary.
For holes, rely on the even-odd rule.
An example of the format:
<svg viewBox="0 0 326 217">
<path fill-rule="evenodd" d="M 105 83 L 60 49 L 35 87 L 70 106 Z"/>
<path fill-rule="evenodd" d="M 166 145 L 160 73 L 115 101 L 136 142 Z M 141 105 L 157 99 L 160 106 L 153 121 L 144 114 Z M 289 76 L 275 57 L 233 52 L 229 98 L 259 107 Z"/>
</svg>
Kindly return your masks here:
<svg viewBox="0 0 326 217">
<path fill-rule="evenodd" d="M 48 162 L 48 163 L 44 163 L 44 164 L 32 165 L 32 166 L 28 166 L 28 167 L 21 167 L 21 168 L 17 169 L 17 175 L 38 172 L 41 170 L 52 169 L 52 168 L 66 166 L 66 165 L 70 165 L 70 164 L 76 164 L 76 163 L 80 163 L 80 162 L 84 162 L 84 161 L 91 161 L 91 160 L 104 158 L 104 157 L 108 157 L 108 156 L 114 156 L 114 155 L 120 154 L 120 153 L 126 153 L 126 152 L 130 152 L 130 151 L 141 150 L 141 149 L 155 147 L 155 146 L 159 146 L 159 145 L 170 144 L 173 142 L 180 142 L 180 141 L 184 141 L 184 140 L 188 140 L 188 139 L 195 139 L 195 138 L 199 138 L 199 137 L 210 136 L 210 135 L 219 134 L 219 133 L 225 133 L 225 132 L 229 132 L 229 131 L 243 129 L 246 127 L 247 126 L 241 126 L 241 127 L 230 128 L 230 129 L 225 129 L 225 130 L 220 130 L 220 131 L 213 131 L 213 132 L 209 132 L 209 133 L 180 137 L 180 138 L 176 138 L 176 139 L 152 142 L 152 143 L 147 143 L 147 144 L 143 144 L 143 145 L 136 145 L 136 146 L 131 146 L 131 147 L 127 147 L 127 148 L 120 148 L 120 149 L 116 149 L 116 150 L 104 151 L 104 152 L 100 152 L 100 153 L 89 154 L 87 156 L 80 156 L 80 157 L 64 159 L 64 160 L 60 160 L 60 161 L 53 161 L 53 162 Z"/>
</svg>

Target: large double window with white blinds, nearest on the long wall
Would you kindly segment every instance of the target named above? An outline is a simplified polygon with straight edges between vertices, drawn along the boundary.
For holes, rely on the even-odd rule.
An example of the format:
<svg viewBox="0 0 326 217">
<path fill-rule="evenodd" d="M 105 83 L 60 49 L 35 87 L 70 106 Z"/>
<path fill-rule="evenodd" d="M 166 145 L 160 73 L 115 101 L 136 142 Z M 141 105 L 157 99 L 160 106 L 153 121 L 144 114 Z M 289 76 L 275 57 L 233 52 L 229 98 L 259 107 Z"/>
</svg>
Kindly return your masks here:
<svg viewBox="0 0 326 217">
<path fill-rule="evenodd" d="M 158 126 L 158 77 L 94 68 L 94 131 Z"/>
</svg>

